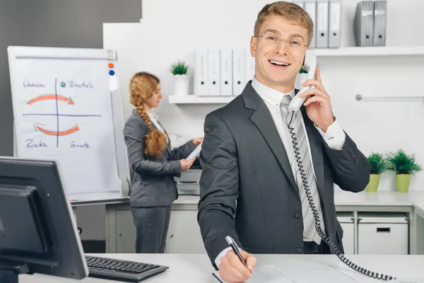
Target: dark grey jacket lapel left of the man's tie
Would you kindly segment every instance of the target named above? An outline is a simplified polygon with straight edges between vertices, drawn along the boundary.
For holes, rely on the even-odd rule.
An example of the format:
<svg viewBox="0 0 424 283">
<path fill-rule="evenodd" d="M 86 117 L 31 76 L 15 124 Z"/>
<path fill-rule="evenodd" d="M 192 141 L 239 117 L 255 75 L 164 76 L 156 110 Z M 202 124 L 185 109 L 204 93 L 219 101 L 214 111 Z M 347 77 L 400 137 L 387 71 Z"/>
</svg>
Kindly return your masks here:
<svg viewBox="0 0 424 283">
<path fill-rule="evenodd" d="M 265 103 L 263 103 L 256 91 L 254 91 L 250 83 L 247 84 L 242 96 L 245 100 L 245 107 L 254 110 L 250 116 L 250 120 L 257 126 L 274 156 L 276 156 L 278 163 L 280 163 L 283 168 L 285 175 L 287 175 L 290 183 L 297 190 L 298 186 L 296 185 L 295 177 L 293 176 L 293 171 L 288 161 L 287 152 L 285 151 L 283 141 L 281 141 L 277 128 L 272 122 L 273 120 L 269 109 L 266 107 Z"/>
</svg>

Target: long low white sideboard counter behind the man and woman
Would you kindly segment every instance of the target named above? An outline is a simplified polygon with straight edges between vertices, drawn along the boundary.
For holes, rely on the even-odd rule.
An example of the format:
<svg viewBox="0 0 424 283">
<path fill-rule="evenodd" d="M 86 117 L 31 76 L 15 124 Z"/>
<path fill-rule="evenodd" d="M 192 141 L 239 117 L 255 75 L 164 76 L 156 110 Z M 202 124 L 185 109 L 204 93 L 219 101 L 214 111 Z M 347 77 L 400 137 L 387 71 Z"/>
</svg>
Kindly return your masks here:
<svg viewBox="0 0 424 283">
<path fill-rule="evenodd" d="M 355 227 L 358 213 L 403 212 L 409 219 L 409 253 L 424 255 L 424 191 L 345 192 L 335 189 L 337 212 L 351 212 Z M 172 204 L 167 253 L 204 253 L 199 224 L 198 196 L 183 195 Z M 355 253 L 358 233 L 354 231 Z M 134 253 L 135 227 L 128 202 L 106 204 L 106 252 Z M 418 240 L 418 241 L 417 241 Z"/>
</svg>

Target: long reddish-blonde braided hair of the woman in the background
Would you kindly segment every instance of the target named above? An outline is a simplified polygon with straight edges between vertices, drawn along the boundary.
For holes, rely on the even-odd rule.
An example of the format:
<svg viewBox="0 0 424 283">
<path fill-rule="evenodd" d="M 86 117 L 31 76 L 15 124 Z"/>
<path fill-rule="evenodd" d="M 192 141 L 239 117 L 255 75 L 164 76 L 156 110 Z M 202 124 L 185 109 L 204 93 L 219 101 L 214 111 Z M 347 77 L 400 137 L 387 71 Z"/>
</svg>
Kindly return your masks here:
<svg viewBox="0 0 424 283">
<path fill-rule="evenodd" d="M 129 95 L 131 104 L 136 107 L 141 119 L 146 122 L 149 133 L 144 137 L 146 149 L 144 153 L 148 156 L 156 156 L 162 158 L 162 151 L 166 148 L 167 137 L 163 132 L 154 129 L 146 110 L 143 107 L 143 102 L 153 96 L 153 93 L 158 88 L 160 80 L 153 74 L 141 71 L 134 74 L 129 83 Z"/>
</svg>

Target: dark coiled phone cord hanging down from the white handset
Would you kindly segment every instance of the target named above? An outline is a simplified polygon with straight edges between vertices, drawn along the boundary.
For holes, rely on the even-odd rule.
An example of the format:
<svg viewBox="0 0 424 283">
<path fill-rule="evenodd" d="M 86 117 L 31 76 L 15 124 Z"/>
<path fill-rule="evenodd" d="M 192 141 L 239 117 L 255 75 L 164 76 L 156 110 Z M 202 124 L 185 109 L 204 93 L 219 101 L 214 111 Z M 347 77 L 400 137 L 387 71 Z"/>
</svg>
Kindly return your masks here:
<svg viewBox="0 0 424 283">
<path fill-rule="evenodd" d="M 296 158 L 296 162 L 298 163 L 299 166 L 299 171 L 300 174 L 302 175 L 302 183 L 303 186 L 305 187 L 305 192 L 307 195 L 307 200 L 310 204 L 310 207 L 312 209 L 312 214 L 314 214 L 314 220 L 315 220 L 315 228 L 317 229 L 318 235 L 322 238 L 322 240 L 324 240 L 324 242 L 329 246 L 329 248 L 331 249 L 331 251 L 333 253 L 335 253 L 337 255 L 337 257 L 344 262 L 346 265 L 348 265 L 348 267 L 351 267 L 353 270 L 362 273 L 363 275 L 367 275 L 368 277 L 372 277 L 375 279 L 381 279 L 381 280 L 391 280 L 391 279 L 396 279 L 396 277 L 391 277 L 388 275 L 383 275 L 383 274 L 378 274 L 375 272 L 371 272 L 370 270 L 366 270 L 363 267 L 360 267 L 358 265 L 355 265 L 355 263 L 351 262 L 351 260 L 349 260 L 348 258 L 346 258 L 343 253 L 341 253 L 341 250 L 338 249 L 338 247 L 336 246 L 336 244 L 332 243 L 330 238 L 328 236 L 326 236 L 324 234 L 324 232 L 322 231 L 321 228 L 321 224 L 319 223 L 319 215 L 317 212 L 317 208 L 314 205 L 314 201 L 312 200 L 312 195 L 310 192 L 310 188 L 309 185 L 307 183 L 307 178 L 306 178 L 306 174 L 305 174 L 305 170 L 303 169 L 302 166 L 302 161 L 300 158 L 300 149 L 298 147 L 298 138 L 295 137 L 295 128 L 290 127 L 292 125 L 292 121 L 293 121 L 293 117 L 294 117 L 295 112 L 291 113 L 291 117 L 290 117 L 290 122 L 288 123 L 288 129 L 290 130 L 290 135 L 293 141 L 293 148 L 295 150 L 295 158 Z"/>
</svg>

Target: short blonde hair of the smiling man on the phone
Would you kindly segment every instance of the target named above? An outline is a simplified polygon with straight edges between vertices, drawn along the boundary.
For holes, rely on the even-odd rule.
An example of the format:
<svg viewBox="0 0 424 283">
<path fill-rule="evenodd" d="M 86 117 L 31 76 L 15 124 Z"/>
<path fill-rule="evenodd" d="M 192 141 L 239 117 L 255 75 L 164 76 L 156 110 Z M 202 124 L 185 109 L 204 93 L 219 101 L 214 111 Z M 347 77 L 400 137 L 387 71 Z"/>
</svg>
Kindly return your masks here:
<svg viewBox="0 0 424 283">
<path fill-rule="evenodd" d="M 295 21 L 298 25 L 306 28 L 307 30 L 307 46 L 309 47 L 314 33 L 314 22 L 311 17 L 302 7 L 298 4 L 278 1 L 271 4 L 266 4 L 264 8 L 258 13 L 257 21 L 254 23 L 254 35 L 259 35 L 261 25 L 266 21 L 269 16 L 282 16 L 288 20 Z"/>
</svg>

